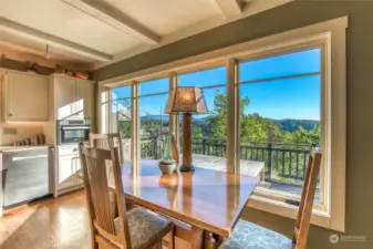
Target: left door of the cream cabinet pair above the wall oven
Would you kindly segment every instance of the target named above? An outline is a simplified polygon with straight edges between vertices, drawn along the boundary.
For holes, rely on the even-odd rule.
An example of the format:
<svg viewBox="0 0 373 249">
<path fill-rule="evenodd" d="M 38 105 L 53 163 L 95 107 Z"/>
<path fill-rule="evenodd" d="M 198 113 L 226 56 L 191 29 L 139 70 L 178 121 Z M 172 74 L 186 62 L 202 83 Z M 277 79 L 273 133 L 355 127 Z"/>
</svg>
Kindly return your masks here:
<svg viewBox="0 0 373 249">
<path fill-rule="evenodd" d="M 55 77 L 55 103 L 58 120 L 73 117 L 75 113 L 75 80 Z"/>
</svg>

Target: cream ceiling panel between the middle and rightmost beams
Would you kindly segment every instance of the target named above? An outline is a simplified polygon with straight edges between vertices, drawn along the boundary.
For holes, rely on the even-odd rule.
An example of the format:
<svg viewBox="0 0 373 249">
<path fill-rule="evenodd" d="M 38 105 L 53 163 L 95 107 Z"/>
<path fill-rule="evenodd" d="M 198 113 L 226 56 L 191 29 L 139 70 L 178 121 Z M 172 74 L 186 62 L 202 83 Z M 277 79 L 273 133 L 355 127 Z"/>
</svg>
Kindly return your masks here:
<svg viewBox="0 0 373 249">
<path fill-rule="evenodd" d="M 215 0 L 104 0 L 157 34 L 221 15 Z"/>
</svg>

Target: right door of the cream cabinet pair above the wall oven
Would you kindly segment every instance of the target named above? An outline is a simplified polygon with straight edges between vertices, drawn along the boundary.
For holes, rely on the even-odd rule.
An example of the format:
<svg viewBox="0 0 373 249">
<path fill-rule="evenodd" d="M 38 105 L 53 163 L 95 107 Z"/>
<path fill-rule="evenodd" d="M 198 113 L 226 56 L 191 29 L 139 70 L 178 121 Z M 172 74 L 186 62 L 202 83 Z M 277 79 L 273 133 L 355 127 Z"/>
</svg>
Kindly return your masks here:
<svg viewBox="0 0 373 249">
<path fill-rule="evenodd" d="M 76 112 L 83 120 L 93 120 L 95 84 L 90 81 L 76 80 Z"/>
</svg>

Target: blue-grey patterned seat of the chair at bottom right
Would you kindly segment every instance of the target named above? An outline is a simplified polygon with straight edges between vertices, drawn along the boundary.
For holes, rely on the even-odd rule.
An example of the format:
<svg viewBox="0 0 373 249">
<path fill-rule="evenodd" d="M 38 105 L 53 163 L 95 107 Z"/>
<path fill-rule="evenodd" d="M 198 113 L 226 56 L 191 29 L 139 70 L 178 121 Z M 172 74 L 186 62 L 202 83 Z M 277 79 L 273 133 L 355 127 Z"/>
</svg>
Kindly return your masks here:
<svg viewBox="0 0 373 249">
<path fill-rule="evenodd" d="M 288 237 L 239 220 L 232 236 L 226 239 L 219 249 L 291 249 L 292 241 Z"/>
</svg>

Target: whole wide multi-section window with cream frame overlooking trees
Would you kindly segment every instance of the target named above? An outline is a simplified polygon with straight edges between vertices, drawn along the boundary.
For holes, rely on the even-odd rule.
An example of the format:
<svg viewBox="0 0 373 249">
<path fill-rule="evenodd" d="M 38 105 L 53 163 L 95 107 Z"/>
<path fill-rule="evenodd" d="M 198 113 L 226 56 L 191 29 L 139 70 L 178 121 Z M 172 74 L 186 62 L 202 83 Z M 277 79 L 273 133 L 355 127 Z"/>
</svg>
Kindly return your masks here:
<svg viewBox="0 0 373 249">
<path fill-rule="evenodd" d="M 131 87 L 112 91 L 111 123 L 120 126 L 118 113 L 131 110 L 132 157 L 157 158 L 163 142 L 152 137 L 173 131 L 182 142 L 182 117 L 163 114 L 170 90 L 200 87 L 209 112 L 193 116 L 195 166 L 250 174 L 250 165 L 262 165 L 248 206 L 296 218 L 297 208 L 284 200 L 299 199 L 309 152 L 320 147 L 311 222 L 344 231 L 346 27 L 348 18 L 340 18 L 102 82 L 117 86 L 122 79 L 137 94 L 131 98 Z M 102 117 L 110 120 L 105 110 Z"/>
</svg>

